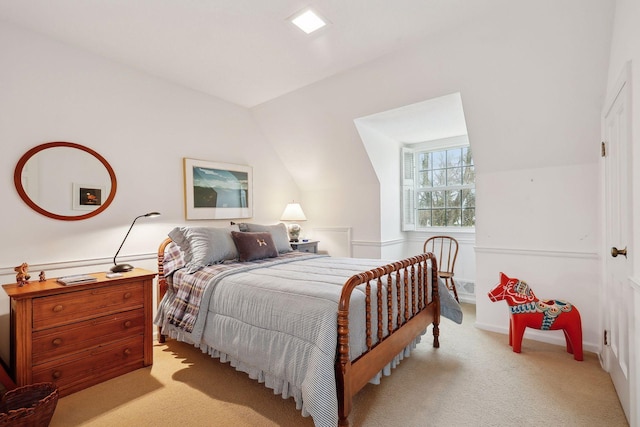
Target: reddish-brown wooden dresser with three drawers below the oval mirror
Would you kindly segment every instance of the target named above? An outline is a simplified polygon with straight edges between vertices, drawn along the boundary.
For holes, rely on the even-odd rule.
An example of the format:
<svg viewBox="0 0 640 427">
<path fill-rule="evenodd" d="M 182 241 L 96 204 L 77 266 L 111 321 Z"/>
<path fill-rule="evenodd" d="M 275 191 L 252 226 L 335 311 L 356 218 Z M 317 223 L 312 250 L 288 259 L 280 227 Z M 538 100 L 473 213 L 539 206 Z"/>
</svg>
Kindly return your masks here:
<svg viewBox="0 0 640 427">
<path fill-rule="evenodd" d="M 2 287 L 11 299 L 11 370 L 18 386 L 58 384 L 60 395 L 153 363 L 155 273 L 136 268 L 64 286 L 49 279 Z"/>
</svg>

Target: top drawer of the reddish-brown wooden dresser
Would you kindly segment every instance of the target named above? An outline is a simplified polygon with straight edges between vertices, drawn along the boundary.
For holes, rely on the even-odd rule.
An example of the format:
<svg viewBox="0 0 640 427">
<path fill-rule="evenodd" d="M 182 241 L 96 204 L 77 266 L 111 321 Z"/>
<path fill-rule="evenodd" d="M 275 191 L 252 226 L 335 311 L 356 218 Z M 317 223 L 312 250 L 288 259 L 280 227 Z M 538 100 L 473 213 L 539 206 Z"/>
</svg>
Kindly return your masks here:
<svg viewBox="0 0 640 427">
<path fill-rule="evenodd" d="M 139 283 L 103 286 L 33 299 L 33 330 L 92 319 L 144 305 Z"/>
</svg>

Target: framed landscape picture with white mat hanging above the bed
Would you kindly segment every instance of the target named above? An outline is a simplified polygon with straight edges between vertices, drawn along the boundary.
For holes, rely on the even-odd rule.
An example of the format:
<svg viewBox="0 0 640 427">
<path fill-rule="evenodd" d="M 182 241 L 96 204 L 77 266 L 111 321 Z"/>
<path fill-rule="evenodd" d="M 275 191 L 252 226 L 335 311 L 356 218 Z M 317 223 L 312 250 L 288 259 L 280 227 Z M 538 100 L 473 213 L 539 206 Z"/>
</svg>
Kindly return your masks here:
<svg viewBox="0 0 640 427">
<path fill-rule="evenodd" d="M 253 216 L 251 166 L 183 158 L 185 217 L 236 219 Z"/>
</svg>

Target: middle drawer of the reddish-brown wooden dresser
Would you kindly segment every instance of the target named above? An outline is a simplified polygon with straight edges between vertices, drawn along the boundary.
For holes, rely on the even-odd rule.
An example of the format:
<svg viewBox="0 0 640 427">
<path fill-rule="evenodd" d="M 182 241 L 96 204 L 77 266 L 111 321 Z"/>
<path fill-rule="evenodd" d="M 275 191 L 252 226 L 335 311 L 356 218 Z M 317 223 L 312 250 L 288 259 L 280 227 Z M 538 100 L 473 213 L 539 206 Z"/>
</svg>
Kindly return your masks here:
<svg viewBox="0 0 640 427">
<path fill-rule="evenodd" d="M 34 332 L 33 364 L 65 357 L 101 343 L 142 335 L 144 326 L 144 310 L 140 308 Z"/>
</svg>

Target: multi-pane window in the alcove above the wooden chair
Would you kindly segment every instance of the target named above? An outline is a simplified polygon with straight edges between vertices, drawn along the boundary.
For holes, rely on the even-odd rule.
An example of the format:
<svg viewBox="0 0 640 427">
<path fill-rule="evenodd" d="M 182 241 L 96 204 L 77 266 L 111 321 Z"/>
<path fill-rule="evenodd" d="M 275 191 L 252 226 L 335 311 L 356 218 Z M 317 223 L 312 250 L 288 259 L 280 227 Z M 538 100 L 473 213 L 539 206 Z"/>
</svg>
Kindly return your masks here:
<svg viewBox="0 0 640 427">
<path fill-rule="evenodd" d="M 403 149 L 403 230 L 475 227 L 475 168 L 469 145 Z"/>
</svg>

